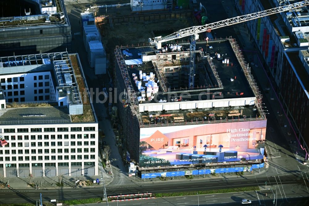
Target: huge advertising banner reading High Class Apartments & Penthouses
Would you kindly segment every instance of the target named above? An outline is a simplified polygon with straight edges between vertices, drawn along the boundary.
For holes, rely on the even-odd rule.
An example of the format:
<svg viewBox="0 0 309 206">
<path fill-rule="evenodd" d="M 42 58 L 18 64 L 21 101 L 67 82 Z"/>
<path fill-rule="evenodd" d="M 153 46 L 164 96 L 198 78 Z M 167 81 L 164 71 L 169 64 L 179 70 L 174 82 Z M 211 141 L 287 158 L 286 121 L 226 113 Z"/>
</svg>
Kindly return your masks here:
<svg viewBox="0 0 309 206">
<path fill-rule="evenodd" d="M 263 159 L 266 121 L 141 128 L 139 166 Z"/>
</svg>

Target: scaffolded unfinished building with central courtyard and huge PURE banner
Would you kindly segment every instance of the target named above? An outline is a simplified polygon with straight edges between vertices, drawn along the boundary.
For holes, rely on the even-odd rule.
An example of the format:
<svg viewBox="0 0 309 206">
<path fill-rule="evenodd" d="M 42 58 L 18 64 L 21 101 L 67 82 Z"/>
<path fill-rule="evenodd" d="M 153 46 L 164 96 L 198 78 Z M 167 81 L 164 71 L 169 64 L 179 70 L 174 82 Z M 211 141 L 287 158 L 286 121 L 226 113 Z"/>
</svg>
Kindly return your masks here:
<svg viewBox="0 0 309 206">
<path fill-rule="evenodd" d="M 115 84 L 124 144 L 139 167 L 263 159 L 262 96 L 231 37 L 196 43 L 117 47 Z"/>
</svg>

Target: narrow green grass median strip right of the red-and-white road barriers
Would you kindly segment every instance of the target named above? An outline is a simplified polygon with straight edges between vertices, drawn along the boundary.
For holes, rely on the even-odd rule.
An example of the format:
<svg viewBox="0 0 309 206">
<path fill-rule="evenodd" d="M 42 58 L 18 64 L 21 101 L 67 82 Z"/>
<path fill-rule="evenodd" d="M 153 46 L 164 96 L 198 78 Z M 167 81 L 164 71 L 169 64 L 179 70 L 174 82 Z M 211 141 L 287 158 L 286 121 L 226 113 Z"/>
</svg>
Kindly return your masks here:
<svg viewBox="0 0 309 206">
<path fill-rule="evenodd" d="M 228 193 L 228 192 L 244 192 L 244 191 L 255 191 L 260 190 L 258 186 L 252 187 L 236 187 L 236 188 L 224 188 L 215 190 L 196 190 L 196 191 L 184 191 L 184 192 L 167 192 L 167 193 L 155 193 L 156 198 L 160 197 L 177 197 L 177 196 L 188 196 L 188 195 L 206 195 L 215 193 Z"/>
</svg>

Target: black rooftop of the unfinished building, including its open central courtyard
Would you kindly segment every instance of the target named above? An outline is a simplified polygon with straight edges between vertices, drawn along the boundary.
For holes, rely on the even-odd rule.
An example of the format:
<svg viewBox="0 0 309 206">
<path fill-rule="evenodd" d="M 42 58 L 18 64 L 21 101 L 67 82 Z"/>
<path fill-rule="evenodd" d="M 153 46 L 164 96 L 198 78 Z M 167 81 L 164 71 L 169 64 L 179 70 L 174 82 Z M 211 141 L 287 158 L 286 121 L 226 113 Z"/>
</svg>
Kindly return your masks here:
<svg viewBox="0 0 309 206">
<path fill-rule="evenodd" d="M 165 45 L 162 46 L 165 47 Z M 143 88 L 144 92 L 147 92 L 147 83 L 158 86 L 158 91 L 153 92 L 151 100 L 146 98 L 140 103 L 155 103 L 160 100 L 171 102 L 171 97 L 185 101 L 207 100 L 212 95 L 219 95 L 223 99 L 255 97 L 229 41 L 209 41 L 207 48 L 204 42 L 197 42 L 196 48 L 199 48 L 200 52 L 196 55 L 195 88 L 193 89 L 188 88 L 189 44 L 181 46 L 181 51 L 168 50 L 166 53 L 155 51 L 151 47 L 121 50 L 125 56 L 128 76 L 138 97 L 143 97 Z M 205 56 L 201 50 L 205 51 Z M 144 61 L 147 58 L 153 61 Z M 158 61 L 157 58 L 161 58 L 162 61 Z M 229 60 L 229 64 L 224 62 L 225 59 Z M 214 66 L 216 74 L 210 65 Z M 142 76 L 149 76 L 150 79 L 141 80 L 140 73 Z M 155 86 L 152 90 L 155 90 Z M 184 92 L 187 93 L 181 95 Z M 200 95 L 201 92 L 205 95 Z"/>
</svg>

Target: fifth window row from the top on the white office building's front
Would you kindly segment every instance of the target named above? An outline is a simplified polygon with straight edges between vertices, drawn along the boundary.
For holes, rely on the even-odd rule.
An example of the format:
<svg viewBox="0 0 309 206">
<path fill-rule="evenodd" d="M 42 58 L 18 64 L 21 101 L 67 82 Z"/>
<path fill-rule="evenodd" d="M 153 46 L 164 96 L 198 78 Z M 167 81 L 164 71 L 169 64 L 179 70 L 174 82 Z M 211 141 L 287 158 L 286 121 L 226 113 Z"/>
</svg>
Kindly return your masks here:
<svg viewBox="0 0 309 206">
<path fill-rule="evenodd" d="M 95 155 L 57 155 L 57 160 L 69 160 L 69 157 L 71 160 L 94 160 Z M 5 161 L 43 161 L 43 156 L 22 156 L 22 157 L 0 157 L 0 161 L 3 161 L 3 158 Z M 56 155 L 52 156 L 44 156 L 45 160 L 56 160 Z"/>
</svg>

